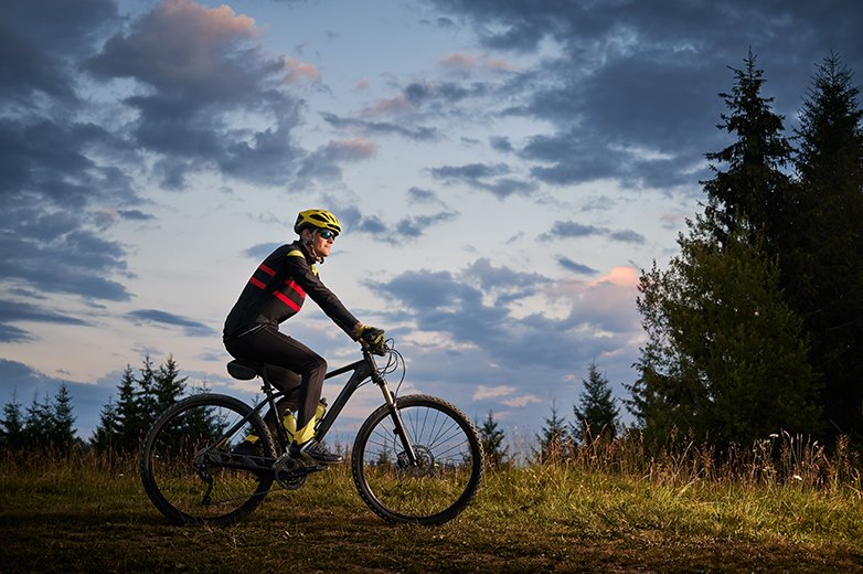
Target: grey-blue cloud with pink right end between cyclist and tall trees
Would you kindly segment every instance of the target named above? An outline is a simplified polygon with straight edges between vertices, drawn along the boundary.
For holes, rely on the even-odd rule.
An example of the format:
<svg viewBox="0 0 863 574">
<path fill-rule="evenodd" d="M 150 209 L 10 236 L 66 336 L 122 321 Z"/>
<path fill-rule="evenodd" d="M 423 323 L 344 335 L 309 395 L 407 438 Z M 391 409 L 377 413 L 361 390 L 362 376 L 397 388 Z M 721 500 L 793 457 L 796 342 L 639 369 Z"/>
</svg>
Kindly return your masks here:
<svg viewBox="0 0 863 574">
<path fill-rule="evenodd" d="M 373 283 L 372 288 L 393 301 L 394 316 L 411 318 L 420 330 L 446 333 L 452 342 L 476 349 L 477 358 L 489 363 L 554 370 L 572 366 L 573 354 L 565 349 L 577 349 L 586 364 L 592 357 L 627 348 L 633 333 L 640 332 L 635 284 L 618 275 L 589 284 L 562 284 L 477 259 L 461 270 L 408 270 L 390 281 Z M 563 312 L 545 312 L 548 305 L 542 297 L 546 296 Z M 604 304 L 606 297 L 612 302 Z M 625 297 L 631 305 L 621 302 Z M 608 316 L 601 317 L 597 309 Z"/>
</svg>

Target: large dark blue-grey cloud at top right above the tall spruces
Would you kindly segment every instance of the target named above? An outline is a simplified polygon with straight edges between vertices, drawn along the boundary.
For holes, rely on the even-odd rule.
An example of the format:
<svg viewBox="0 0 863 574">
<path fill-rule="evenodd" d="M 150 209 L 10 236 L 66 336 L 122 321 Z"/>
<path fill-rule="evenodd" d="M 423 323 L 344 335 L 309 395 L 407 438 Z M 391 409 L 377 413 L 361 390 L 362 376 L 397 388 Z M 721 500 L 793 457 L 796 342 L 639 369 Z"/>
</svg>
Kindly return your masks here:
<svg viewBox="0 0 863 574">
<path fill-rule="evenodd" d="M 678 188 L 706 179 L 703 153 L 723 142 L 711 129 L 722 111 L 716 94 L 731 85 L 726 66 L 742 62 L 747 47 L 770 59 L 767 87 L 791 94 L 776 103 L 791 120 L 813 52 L 843 46 L 860 55 L 843 22 L 863 17 L 863 6 L 663 3 L 578 0 L 537 10 L 516 0 L 434 0 L 446 18 L 472 26 L 486 49 L 539 60 L 531 81 L 516 76 L 511 97 L 500 99 L 552 126 L 519 151 L 535 162 L 533 178 L 555 185 L 614 178 Z M 448 62 L 472 64 L 459 54 Z"/>
</svg>

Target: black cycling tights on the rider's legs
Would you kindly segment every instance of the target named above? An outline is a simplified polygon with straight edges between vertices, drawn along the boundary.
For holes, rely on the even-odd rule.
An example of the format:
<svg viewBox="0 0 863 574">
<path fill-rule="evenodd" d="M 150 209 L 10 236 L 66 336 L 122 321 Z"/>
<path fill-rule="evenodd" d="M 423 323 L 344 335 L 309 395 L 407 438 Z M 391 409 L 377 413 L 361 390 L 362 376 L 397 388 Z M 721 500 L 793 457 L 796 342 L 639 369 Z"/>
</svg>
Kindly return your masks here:
<svg viewBox="0 0 863 574">
<path fill-rule="evenodd" d="M 226 341 L 225 348 L 235 359 L 266 363 L 273 386 L 285 391 L 285 396 L 276 403 L 278 418 L 271 411 L 264 417 L 269 428 L 276 427 L 286 408 L 299 408 L 298 429 L 311 421 L 321 397 L 323 375 L 327 374 L 327 361 L 322 357 L 270 326 Z"/>
</svg>

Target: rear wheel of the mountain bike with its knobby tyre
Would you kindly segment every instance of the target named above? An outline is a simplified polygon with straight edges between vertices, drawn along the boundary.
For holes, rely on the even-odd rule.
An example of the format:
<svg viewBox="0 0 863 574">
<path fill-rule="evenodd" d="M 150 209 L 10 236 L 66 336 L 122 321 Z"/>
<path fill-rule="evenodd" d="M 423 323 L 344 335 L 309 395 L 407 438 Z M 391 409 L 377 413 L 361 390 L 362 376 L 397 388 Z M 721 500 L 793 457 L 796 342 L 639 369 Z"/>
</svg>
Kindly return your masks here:
<svg viewBox="0 0 863 574">
<path fill-rule="evenodd" d="M 223 432 L 252 408 L 227 395 L 202 393 L 169 407 L 150 427 L 141 448 L 141 480 L 159 511 L 179 524 L 227 525 L 252 512 L 273 485 L 273 439 L 255 413 L 221 445 Z M 257 451 L 231 453 L 248 433 L 259 438 Z M 234 466 L 231 466 L 234 465 Z M 239 466 L 239 468 L 237 467 Z"/>
</svg>

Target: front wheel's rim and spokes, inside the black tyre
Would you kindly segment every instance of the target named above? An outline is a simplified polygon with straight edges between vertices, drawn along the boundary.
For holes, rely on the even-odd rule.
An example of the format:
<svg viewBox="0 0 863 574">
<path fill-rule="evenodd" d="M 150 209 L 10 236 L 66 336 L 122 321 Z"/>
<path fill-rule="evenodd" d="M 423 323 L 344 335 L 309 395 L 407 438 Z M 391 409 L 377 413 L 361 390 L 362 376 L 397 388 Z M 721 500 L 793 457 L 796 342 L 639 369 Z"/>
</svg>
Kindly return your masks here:
<svg viewBox="0 0 863 574">
<path fill-rule="evenodd" d="M 481 460 L 469 431 L 440 405 L 399 405 L 417 465 L 411 465 L 388 415 L 374 425 L 363 448 L 367 493 L 398 521 L 435 522 L 472 495 Z"/>
</svg>

